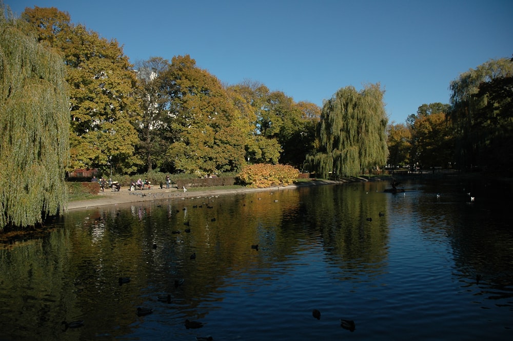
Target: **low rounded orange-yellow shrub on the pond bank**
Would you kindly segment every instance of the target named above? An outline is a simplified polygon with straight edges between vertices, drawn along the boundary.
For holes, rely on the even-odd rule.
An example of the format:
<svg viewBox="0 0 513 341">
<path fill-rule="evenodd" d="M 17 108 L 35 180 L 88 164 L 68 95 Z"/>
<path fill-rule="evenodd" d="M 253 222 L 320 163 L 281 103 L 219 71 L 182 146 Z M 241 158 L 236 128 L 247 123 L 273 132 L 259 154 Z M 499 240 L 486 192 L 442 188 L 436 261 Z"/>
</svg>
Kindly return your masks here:
<svg viewBox="0 0 513 341">
<path fill-rule="evenodd" d="M 288 165 L 254 164 L 246 166 L 239 178 L 246 187 L 266 188 L 269 186 L 289 185 L 299 176 L 299 171 Z"/>
</svg>

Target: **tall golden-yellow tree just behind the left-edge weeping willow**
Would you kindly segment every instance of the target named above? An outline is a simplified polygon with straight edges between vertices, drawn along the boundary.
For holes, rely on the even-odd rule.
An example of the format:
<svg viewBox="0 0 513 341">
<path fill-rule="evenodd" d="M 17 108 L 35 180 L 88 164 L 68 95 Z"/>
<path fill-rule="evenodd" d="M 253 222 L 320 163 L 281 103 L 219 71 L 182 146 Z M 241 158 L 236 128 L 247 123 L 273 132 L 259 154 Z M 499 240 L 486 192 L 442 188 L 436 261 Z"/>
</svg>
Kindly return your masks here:
<svg viewBox="0 0 513 341">
<path fill-rule="evenodd" d="M 107 41 L 56 8 L 26 8 L 25 29 L 59 51 L 67 66 L 71 103 L 70 169 L 112 165 L 117 172 L 135 170 L 133 126 L 139 106 L 135 73 L 115 41 Z"/>
</svg>

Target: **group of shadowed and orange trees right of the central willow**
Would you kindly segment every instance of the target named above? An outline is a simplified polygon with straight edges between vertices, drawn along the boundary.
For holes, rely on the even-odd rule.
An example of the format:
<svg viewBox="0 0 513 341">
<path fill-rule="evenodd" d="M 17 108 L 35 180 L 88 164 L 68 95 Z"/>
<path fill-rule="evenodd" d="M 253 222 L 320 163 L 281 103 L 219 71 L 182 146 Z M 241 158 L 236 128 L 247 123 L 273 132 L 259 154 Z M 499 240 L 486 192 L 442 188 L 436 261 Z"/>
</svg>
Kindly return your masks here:
<svg viewBox="0 0 513 341">
<path fill-rule="evenodd" d="M 461 73 L 449 92 L 449 104 L 423 104 L 406 123 L 388 126 L 388 164 L 511 176 L 513 57 Z"/>
</svg>

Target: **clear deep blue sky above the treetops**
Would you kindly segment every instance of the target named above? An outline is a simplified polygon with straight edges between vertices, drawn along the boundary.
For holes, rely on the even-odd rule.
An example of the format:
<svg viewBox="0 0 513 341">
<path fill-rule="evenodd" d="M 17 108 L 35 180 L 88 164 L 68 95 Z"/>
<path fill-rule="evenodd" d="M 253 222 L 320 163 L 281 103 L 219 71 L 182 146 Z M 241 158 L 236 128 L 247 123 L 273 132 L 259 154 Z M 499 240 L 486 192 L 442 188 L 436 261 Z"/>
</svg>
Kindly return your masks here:
<svg viewBox="0 0 513 341">
<path fill-rule="evenodd" d="M 338 89 L 380 83 L 390 122 L 449 103 L 449 83 L 513 55 L 511 0 L 4 0 L 56 7 L 134 63 L 189 54 L 221 82 L 259 81 L 322 106 Z"/>
</svg>

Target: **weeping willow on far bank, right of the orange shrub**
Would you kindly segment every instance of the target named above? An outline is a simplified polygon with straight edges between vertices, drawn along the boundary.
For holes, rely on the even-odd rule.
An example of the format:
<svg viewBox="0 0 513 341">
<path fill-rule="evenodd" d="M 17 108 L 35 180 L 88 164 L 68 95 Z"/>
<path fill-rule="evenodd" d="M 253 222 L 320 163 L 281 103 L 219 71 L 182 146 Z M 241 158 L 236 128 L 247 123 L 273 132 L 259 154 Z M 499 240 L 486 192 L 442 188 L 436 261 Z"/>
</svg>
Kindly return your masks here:
<svg viewBox="0 0 513 341">
<path fill-rule="evenodd" d="M 358 92 L 349 86 L 323 105 L 317 127 L 319 147 L 307 156 L 312 170 L 323 177 L 355 176 L 385 165 L 388 118 L 379 84 Z"/>
</svg>

